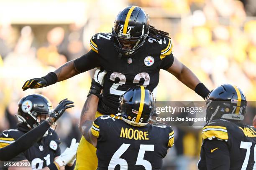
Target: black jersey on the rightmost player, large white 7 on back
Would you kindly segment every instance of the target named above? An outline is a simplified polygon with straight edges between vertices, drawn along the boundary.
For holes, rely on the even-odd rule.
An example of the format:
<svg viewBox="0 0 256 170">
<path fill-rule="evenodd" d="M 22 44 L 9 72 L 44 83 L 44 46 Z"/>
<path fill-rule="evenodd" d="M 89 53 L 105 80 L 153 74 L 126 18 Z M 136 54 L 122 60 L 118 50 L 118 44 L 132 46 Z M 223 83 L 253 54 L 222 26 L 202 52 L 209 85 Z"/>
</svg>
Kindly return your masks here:
<svg viewBox="0 0 256 170">
<path fill-rule="evenodd" d="M 221 148 L 203 148 L 207 140 L 222 140 L 228 146 L 230 157 L 230 170 L 255 170 L 256 169 L 256 128 L 230 122 L 228 120 L 214 120 L 202 130 L 203 144 L 201 148 L 198 168 L 207 170 L 206 156 L 222 152 Z M 228 153 L 227 152 L 227 153 Z M 206 155 L 208 154 L 208 155 Z M 222 156 L 220 154 L 220 156 Z"/>
</svg>

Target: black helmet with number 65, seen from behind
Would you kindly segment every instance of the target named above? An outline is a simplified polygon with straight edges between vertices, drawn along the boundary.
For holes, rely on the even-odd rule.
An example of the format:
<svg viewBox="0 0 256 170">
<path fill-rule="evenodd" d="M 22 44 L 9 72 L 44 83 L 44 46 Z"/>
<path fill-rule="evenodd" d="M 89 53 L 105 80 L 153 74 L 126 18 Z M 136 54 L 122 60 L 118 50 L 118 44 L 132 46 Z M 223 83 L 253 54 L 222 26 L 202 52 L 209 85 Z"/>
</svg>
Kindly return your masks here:
<svg viewBox="0 0 256 170">
<path fill-rule="evenodd" d="M 143 86 L 134 86 L 120 97 L 122 120 L 133 126 L 145 126 L 154 112 L 153 94 Z"/>
</svg>

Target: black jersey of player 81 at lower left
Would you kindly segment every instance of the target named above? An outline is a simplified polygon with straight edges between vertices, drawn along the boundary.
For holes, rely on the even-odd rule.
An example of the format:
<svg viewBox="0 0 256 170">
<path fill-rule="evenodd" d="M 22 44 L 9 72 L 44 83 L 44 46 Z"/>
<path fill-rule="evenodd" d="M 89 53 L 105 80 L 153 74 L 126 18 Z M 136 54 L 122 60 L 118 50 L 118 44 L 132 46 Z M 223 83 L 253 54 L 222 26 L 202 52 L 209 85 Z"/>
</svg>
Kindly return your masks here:
<svg viewBox="0 0 256 170">
<path fill-rule="evenodd" d="M 15 142 L 23 134 L 25 132 L 20 130 L 5 130 L 0 136 L 0 146 L 6 146 Z M 56 132 L 53 129 L 49 129 L 46 137 L 43 137 L 24 153 L 20 153 L 9 161 L 28 160 L 31 161 L 33 170 L 40 170 L 50 165 L 54 161 L 54 158 L 61 154 L 59 148 L 60 143 Z"/>
</svg>

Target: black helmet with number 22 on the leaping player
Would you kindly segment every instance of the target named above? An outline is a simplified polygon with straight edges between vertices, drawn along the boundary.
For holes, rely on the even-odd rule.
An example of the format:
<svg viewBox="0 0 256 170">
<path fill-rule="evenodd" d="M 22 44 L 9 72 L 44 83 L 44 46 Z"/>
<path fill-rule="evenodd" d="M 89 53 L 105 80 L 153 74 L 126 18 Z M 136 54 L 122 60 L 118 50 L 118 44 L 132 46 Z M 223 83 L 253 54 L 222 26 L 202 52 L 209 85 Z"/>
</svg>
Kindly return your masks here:
<svg viewBox="0 0 256 170">
<path fill-rule="evenodd" d="M 112 29 L 115 48 L 121 54 L 131 55 L 143 45 L 148 30 L 148 14 L 141 7 L 126 7 L 116 17 Z"/>
</svg>

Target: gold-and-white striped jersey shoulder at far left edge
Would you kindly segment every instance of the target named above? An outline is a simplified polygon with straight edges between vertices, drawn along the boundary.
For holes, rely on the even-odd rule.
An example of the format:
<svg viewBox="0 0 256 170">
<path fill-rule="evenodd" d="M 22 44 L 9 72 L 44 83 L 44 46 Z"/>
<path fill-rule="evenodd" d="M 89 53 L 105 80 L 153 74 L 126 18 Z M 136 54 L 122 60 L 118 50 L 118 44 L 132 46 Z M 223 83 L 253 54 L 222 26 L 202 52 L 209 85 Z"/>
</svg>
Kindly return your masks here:
<svg viewBox="0 0 256 170">
<path fill-rule="evenodd" d="M 3 133 L 0 135 L 0 148 L 3 148 L 5 146 L 10 145 L 11 143 L 15 142 L 15 139 L 18 138 L 18 130 L 10 129 L 10 130 L 5 130 Z M 15 134 L 16 135 L 15 135 Z"/>
</svg>

